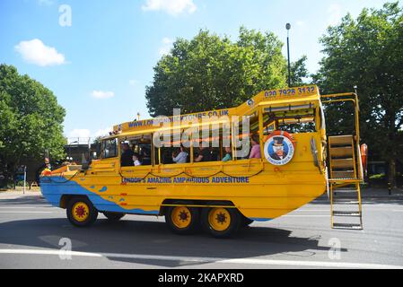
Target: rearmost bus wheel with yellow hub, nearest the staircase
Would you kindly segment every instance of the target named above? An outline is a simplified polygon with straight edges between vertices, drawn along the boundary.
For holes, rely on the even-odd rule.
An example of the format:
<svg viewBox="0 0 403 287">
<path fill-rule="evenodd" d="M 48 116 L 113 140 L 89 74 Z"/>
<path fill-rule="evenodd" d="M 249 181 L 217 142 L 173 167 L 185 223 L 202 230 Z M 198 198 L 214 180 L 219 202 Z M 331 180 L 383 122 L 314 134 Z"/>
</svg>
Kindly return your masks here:
<svg viewBox="0 0 403 287">
<path fill-rule="evenodd" d="M 232 236 L 241 226 L 241 214 L 235 208 L 212 207 L 202 212 L 203 229 L 216 238 Z"/>
</svg>

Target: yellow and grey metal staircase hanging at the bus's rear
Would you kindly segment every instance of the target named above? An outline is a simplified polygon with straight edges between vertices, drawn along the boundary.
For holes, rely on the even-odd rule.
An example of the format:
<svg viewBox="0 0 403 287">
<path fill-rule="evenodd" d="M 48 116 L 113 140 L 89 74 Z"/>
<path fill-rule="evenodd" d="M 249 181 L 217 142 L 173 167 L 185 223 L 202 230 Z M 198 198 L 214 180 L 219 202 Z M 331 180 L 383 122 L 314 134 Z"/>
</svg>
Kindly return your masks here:
<svg viewBox="0 0 403 287">
<path fill-rule="evenodd" d="M 362 230 L 359 144 L 355 143 L 354 135 L 329 136 L 328 143 L 331 226 Z"/>
</svg>

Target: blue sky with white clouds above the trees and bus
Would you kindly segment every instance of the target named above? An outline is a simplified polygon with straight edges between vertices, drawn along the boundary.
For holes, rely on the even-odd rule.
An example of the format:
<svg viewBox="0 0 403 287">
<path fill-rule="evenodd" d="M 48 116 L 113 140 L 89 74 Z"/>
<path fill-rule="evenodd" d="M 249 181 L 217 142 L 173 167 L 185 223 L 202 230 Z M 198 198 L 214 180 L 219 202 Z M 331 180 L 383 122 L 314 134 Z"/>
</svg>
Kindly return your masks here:
<svg viewBox="0 0 403 287">
<path fill-rule="evenodd" d="M 243 25 L 273 31 L 291 61 L 319 68 L 319 39 L 329 25 L 383 0 L 0 0 L 0 63 L 43 83 L 66 109 L 66 137 L 106 135 L 150 117 L 145 86 L 177 38 L 200 29 L 236 40 Z M 283 49 L 286 57 L 286 46 Z M 270 89 L 270 87 L 267 87 Z M 74 139 L 76 140 L 76 139 Z M 72 140 L 71 140 L 72 141 Z"/>
</svg>

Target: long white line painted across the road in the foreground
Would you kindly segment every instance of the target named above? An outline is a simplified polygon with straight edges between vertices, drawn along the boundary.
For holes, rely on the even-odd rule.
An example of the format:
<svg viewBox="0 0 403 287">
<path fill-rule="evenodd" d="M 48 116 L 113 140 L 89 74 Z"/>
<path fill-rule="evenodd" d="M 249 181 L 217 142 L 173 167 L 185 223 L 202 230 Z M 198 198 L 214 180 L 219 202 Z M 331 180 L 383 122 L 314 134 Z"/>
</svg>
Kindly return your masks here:
<svg viewBox="0 0 403 287">
<path fill-rule="evenodd" d="M 57 249 L 0 249 L 0 254 L 18 255 L 66 255 L 68 251 Z M 292 261 L 274 260 L 259 258 L 218 258 L 218 257 L 174 257 L 146 254 L 124 254 L 124 253 L 93 253 L 93 252 L 68 252 L 72 257 L 114 257 L 130 259 L 148 259 L 164 261 L 186 261 L 199 263 L 220 263 L 220 264 L 243 264 L 243 265 L 289 265 L 306 267 L 329 267 L 329 268 L 359 268 L 359 269 L 403 269 L 403 265 L 381 265 L 372 263 L 350 263 L 331 261 Z"/>
</svg>

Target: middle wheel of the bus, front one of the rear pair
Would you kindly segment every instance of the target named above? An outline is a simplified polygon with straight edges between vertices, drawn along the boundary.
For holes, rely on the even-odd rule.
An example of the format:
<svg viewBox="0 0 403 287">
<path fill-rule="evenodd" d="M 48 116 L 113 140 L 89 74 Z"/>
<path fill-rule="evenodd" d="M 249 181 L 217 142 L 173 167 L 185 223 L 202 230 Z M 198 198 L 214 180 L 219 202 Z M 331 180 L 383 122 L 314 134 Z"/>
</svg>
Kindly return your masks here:
<svg viewBox="0 0 403 287">
<path fill-rule="evenodd" d="M 197 230 L 198 209 L 187 206 L 171 206 L 165 213 L 165 222 L 177 234 L 190 234 Z"/>
</svg>

